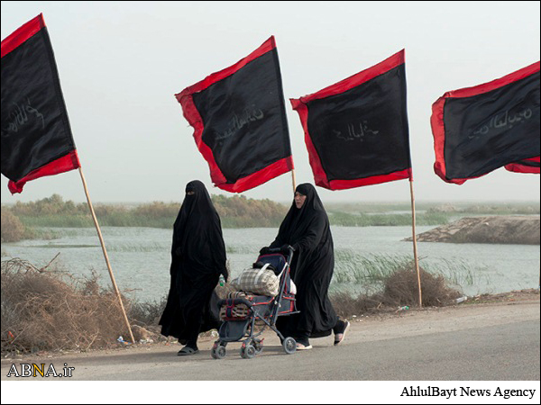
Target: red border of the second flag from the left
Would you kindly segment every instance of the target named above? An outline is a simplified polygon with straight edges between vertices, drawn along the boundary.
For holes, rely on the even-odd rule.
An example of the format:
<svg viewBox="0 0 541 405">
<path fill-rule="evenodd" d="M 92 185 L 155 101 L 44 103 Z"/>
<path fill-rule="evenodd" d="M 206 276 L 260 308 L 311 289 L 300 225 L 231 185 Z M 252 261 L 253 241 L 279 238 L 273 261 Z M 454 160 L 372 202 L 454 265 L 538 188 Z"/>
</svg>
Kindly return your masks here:
<svg viewBox="0 0 541 405">
<path fill-rule="evenodd" d="M 242 58 L 231 67 L 226 67 L 219 72 L 206 76 L 205 79 L 197 82 L 195 85 L 190 85 L 182 90 L 179 94 L 175 94 L 177 101 L 182 106 L 184 117 L 194 128 L 193 136 L 196 140 L 197 149 L 199 149 L 199 152 L 201 155 L 203 155 L 208 163 L 208 166 L 210 167 L 210 178 L 216 187 L 228 192 L 243 193 L 244 191 L 250 190 L 259 184 L 268 182 L 274 177 L 283 175 L 284 173 L 293 170 L 293 157 L 284 157 L 271 165 L 262 168 L 260 171 L 252 173 L 252 175 L 247 175 L 238 179 L 235 183 L 227 183 L 225 175 L 222 173 L 220 167 L 215 161 L 212 149 L 209 148 L 203 141 L 204 124 L 201 115 L 197 111 L 196 104 L 194 103 L 193 94 L 201 92 L 210 85 L 214 85 L 216 82 L 234 75 L 234 73 L 238 72 L 241 68 L 252 62 L 252 60 L 260 58 L 262 55 L 270 52 L 272 49 L 276 49 L 276 41 L 274 40 L 274 36 L 271 36 L 271 38 L 263 42 L 258 49 L 255 49 L 250 55 L 248 55 L 246 58 Z"/>
</svg>

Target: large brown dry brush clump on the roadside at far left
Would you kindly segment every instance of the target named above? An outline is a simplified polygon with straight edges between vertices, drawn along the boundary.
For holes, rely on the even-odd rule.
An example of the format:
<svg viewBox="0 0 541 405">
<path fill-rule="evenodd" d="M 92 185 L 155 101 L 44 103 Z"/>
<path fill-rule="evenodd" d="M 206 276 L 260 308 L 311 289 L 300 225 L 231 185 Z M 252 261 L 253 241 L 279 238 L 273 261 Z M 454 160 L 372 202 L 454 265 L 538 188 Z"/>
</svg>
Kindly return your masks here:
<svg viewBox="0 0 541 405">
<path fill-rule="evenodd" d="M 124 302 L 129 307 L 129 302 Z M 129 336 L 114 293 L 52 262 L 2 262 L 2 353 L 108 347 Z"/>
</svg>

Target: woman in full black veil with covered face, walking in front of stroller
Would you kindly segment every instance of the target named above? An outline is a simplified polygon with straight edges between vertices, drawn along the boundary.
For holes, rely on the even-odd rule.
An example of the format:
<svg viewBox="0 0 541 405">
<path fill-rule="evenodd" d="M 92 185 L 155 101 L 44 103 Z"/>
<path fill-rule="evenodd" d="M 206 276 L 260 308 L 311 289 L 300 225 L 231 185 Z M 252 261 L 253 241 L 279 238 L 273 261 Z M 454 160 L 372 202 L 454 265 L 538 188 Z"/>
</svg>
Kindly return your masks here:
<svg viewBox="0 0 541 405">
<path fill-rule="evenodd" d="M 171 284 L 161 315 L 161 334 L 179 338 L 179 356 L 197 353 L 197 336 L 220 326 L 215 286 L 227 280 L 220 217 L 205 185 L 193 181 L 175 220 L 171 247 Z"/>
</svg>

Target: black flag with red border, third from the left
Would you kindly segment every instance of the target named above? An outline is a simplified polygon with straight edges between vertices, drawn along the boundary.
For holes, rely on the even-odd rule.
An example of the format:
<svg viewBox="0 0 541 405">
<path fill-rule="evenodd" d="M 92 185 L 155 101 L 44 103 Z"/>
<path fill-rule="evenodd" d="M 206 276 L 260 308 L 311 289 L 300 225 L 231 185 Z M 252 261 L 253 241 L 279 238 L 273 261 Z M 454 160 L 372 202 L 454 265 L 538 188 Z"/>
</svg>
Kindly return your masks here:
<svg viewBox="0 0 541 405">
<path fill-rule="evenodd" d="M 316 184 L 341 190 L 411 178 L 404 50 L 300 99 Z"/>
</svg>

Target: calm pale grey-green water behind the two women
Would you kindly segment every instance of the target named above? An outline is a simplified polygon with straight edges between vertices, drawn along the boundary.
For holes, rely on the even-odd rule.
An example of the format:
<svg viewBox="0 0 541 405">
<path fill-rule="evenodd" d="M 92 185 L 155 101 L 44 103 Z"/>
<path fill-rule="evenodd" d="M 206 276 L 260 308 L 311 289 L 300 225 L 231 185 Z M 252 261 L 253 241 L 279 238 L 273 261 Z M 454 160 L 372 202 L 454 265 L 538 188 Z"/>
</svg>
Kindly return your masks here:
<svg viewBox="0 0 541 405">
<path fill-rule="evenodd" d="M 434 227 L 417 227 L 417 233 Z M 2 244 L 8 257 L 21 257 L 45 266 L 60 253 L 60 266 L 74 275 L 95 270 L 101 283 L 110 284 L 96 229 L 53 229 L 60 238 Z M 413 245 L 403 242 L 410 227 L 334 227 L 335 250 L 362 256 L 412 257 Z M 102 229 L 105 246 L 122 291 L 142 301 L 159 301 L 170 286 L 172 230 L 152 228 Z M 224 229 L 232 274 L 251 266 L 257 252 L 268 246 L 278 229 Z M 539 247 L 525 245 L 418 243 L 420 264 L 442 269 L 461 285 L 463 293 L 503 293 L 535 288 L 539 279 Z M 3 257 L 5 259 L 6 257 Z M 337 266 L 341 266 L 337 261 Z M 361 292 L 361 284 L 333 284 L 333 290 Z"/>
</svg>

